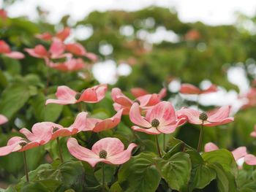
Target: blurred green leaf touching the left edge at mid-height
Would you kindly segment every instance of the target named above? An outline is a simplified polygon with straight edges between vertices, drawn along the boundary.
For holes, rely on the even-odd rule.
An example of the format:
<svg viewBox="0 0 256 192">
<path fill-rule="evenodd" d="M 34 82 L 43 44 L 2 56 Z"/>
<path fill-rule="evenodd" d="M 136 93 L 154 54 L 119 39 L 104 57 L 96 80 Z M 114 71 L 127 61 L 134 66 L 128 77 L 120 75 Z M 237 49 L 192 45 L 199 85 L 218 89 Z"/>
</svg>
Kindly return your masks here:
<svg viewBox="0 0 256 192">
<path fill-rule="evenodd" d="M 23 84 L 14 84 L 8 86 L 2 93 L 0 99 L 0 113 L 12 118 L 15 112 L 29 99 L 29 87 Z"/>
</svg>

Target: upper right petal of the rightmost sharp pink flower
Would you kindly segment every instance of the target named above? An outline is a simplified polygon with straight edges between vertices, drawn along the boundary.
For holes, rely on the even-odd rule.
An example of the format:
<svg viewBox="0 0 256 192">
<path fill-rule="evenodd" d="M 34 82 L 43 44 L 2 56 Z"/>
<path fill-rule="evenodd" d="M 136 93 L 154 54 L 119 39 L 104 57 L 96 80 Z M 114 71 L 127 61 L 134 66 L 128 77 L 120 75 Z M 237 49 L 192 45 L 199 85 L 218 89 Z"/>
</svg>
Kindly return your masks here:
<svg viewBox="0 0 256 192">
<path fill-rule="evenodd" d="M 230 108 L 230 106 L 223 106 L 217 110 L 214 110 L 214 112 L 208 112 L 207 120 L 209 122 L 218 122 L 224 120 L 225 118 L 228 118 L 228 116 L 230 115 Z"/>
</svg>

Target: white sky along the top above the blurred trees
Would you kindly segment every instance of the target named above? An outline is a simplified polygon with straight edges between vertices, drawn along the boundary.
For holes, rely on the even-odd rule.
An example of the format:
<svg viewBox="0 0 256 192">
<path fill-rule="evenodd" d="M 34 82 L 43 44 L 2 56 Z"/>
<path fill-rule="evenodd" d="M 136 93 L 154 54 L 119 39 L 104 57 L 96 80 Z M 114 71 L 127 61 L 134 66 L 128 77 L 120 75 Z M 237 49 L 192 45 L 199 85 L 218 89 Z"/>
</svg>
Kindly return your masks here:
<svg viewBox="0 0 256 192">
<path fill-rule="evenodd" d="M 0 0 L 0 6 L 2 0 Z M 8 13 L 11 17 L 28 15 L 37 17 L 35 7 L 40 5 L 50 11 L 49 21 L 56 23 L 62 15 L 70 14 L 74 20 L 80 20 L 89 12 L 97 9 L 136 10 L 150 5 L 175 7 L 179 18 L 184 22 L 203 21 L 211 25 L 228 24 L 235 21 L 234 12 L 254 15 L 255 0 L 23 0 L 17 1 Z"/>
</svg>

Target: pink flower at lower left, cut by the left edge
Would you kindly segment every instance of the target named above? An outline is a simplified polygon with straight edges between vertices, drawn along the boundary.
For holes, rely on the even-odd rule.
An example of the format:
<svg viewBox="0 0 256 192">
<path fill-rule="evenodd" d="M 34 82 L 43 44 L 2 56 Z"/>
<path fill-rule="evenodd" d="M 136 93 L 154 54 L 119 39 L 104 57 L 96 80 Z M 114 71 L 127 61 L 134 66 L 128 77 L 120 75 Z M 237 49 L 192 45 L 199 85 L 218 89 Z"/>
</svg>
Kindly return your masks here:
<svg viewBox="0 0 256 192">
<path fill-rule="evenodd" d="M 16 151 L 21 152 L 24 150 L 29 150 L 42 144 L 44 144 L 44 141 L 42 140 L 29 141 L 28 139 L 22 137 L 12 137 L 7 142 L 7 146 L 0 147 L 0 156 L 8 155 Z"/>
</svg>

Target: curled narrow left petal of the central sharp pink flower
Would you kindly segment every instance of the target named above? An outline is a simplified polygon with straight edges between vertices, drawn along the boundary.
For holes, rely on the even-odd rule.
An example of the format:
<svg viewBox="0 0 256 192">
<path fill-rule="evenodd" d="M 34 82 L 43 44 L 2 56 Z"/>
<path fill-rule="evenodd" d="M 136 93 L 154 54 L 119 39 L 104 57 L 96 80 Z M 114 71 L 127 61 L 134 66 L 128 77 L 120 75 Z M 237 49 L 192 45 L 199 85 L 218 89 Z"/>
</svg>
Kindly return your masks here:
<svg viewBox="0 0 256 192">
<path fill-rule="evenodd" d="M 140 107 L 138 103 L 132 104 L 132 107 L 129 110 L 129 119 L 132 121 L 132 123 L 135 123 L 138 126 L 143 126 L 146 128 L 151 127 L 151 123 L 140 115 Z"/>
</svg>

